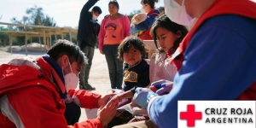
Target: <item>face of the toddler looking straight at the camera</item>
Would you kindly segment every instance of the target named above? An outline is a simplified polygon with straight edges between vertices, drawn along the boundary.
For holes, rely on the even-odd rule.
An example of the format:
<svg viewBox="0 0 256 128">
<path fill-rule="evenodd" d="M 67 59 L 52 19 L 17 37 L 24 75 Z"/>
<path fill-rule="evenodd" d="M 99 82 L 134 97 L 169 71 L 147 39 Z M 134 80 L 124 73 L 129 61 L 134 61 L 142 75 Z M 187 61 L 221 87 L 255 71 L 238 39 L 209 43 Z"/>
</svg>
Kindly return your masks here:
<svg viewBox="0 0 256 128">
<path fill-rule="evenodd" d="M 142 53 L 133 47 L 133 45 L 130 46 L 129 51 L 125 52 L 123 57 L 124 61 L 128 63 L 129 65 L 133 66 L 137 64 L 139 61 L 142 60 Z"/>
</svg>

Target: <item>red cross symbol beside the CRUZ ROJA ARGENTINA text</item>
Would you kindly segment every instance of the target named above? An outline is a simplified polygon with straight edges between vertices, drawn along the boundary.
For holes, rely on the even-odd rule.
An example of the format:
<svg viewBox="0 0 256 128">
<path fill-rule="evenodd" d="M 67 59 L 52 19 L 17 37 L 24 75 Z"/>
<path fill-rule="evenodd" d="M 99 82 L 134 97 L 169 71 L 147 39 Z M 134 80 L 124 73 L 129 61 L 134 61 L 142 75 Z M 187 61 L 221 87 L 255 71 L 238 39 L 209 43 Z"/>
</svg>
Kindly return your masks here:
<svg viewBox="0 0 256 128">
<path fill-rule="evenodd" d="M 201 112 L 195 112 L 195 105 L 189 104 L 187 112 L 180 112 L 180 119 L 187 119 L 187 125 L 194 127 L 195 119 L 201 119 Z"/>
</svg>

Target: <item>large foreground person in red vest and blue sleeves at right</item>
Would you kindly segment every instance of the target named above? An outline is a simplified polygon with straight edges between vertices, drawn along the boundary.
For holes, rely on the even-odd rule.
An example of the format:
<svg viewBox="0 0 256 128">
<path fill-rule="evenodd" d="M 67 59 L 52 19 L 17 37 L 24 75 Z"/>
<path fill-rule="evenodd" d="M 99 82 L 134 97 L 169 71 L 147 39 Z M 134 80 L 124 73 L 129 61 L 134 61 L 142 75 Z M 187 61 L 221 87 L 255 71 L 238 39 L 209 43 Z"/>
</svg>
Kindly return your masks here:
<svg viewBox="0 0 256 128">
<path fill-rule="evenodd" d="M 157 96 L 137 88 L 159 127 L 177 127 L 177 101 L 256 100 L 256 3 L 252 0 L 165 0 L 166 15 L 190 26 L 172 61 L 172 91 Z"/>
</svg>

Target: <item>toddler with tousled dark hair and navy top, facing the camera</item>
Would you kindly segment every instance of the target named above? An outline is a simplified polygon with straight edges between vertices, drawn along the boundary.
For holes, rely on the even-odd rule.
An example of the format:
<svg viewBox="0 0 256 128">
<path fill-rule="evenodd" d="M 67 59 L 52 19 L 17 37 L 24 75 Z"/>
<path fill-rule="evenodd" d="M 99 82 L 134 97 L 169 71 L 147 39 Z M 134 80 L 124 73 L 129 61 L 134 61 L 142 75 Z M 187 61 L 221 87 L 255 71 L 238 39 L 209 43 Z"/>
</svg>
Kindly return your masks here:
<svg viewBox="0 0 256 128">
<path fill-rule="evenodd" d="M 137 87 L 147 87 L 149 84 L 149 66 L 147 61 L 143 60 L 144 56 L 145 48 L 140 38 L 130 36 L 119 44 L 118 58 L 124 61 L 123 90 L 125 91 L 115 96 L 119 98 L 119 107 L 131 102 Z"/>
</svg>

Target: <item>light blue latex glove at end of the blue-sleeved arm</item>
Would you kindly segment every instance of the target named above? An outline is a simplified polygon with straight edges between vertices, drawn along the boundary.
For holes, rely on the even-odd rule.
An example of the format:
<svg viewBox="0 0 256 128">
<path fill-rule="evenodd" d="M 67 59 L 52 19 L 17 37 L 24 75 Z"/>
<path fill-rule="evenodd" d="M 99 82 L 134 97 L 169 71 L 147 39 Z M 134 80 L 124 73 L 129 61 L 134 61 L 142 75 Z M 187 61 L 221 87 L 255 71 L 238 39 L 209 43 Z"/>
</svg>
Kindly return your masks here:
<svg viewBox="0 0 256 128">
<path fill-rule="evenodd" d="M 158 94 L 154 93 L 152 90 L 148 88 L 137 88 L 135 91 L 136 93 L 134 94 L 133 99 L 142 108 L 148 107 L 149 96 L 158 96 Z"/>
</svg>

